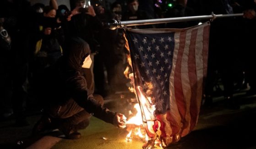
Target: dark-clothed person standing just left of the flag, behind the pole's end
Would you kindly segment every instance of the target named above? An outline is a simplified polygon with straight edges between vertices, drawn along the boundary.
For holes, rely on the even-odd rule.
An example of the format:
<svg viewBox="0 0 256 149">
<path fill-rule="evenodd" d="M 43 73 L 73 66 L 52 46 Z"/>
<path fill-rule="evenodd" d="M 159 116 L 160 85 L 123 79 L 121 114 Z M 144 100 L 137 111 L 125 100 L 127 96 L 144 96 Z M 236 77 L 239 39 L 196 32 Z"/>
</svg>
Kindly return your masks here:
<svg viewBox="0 0 256 149">
<path fill-rule="evenodd" d="M 122 8 L 120 3 L 113 3 L 110 11 L 103 10 L 102 4 L 97 4 L 94 7 L 96 14 L 101 21 L 109 21 L 112 19 L 121 19 Z M 120 20 L 118 20 L 120 21 Z M 96 55 L 101 57 L 98 62 L 98 70 L 95 70 L 95 74 L 102 74 L 104 77 L 104 94 L 105 96 L 110 95 L 114 92 L 126 91 L 127 80 L 124 75 L 125 71 L 125 39 L 123 29 L 110 30 L 109 28 L 103 28 L 98 32 L 97 40 L 100 43 L 100 51 Z M 95 69 L 96 67 L 94 67 Z M 104 70 L 106 70 L 104 73 Z M 95 80 L 96 82 L 97 80 Z"/>
</svg>

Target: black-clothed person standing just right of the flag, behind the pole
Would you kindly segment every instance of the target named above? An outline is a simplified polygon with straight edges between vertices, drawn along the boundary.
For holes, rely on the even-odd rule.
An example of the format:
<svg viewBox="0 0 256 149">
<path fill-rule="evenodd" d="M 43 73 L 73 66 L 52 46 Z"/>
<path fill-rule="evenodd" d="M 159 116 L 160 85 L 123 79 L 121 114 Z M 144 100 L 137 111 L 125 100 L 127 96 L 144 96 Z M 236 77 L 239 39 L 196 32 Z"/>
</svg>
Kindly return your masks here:
<svg viewBox="0 0 256 149">
<path fill-rule="evenodd" d="M 209 15 L 212 12 L 216 15 L 234 14 L 233 3 L 230 0 L 198 0 L 197 2 L 198 5 L 202 6 L 201 15 Z M 236 38 L 240 34 L 239 26 L 237 26 L 238 23 L 234 22 L 236 22 L 234 17 L 216 19 L 211 22 L 207 78 L 204 90 L 205 103 L 203 104 L 206 107 L 213 106 L 213 89 L 217 83 L 216 78 L 219 77 L 218 79 L 221 79 L 223 83 L 224 89 L 221 95 L 224 96 L 225 107 L 229 109 L 240 108 L 238 101 L 233 97 L 234 63 L 237 59 L 238 50 L 240 50 L 234 44 L 240 42 Z"/>
</svg>

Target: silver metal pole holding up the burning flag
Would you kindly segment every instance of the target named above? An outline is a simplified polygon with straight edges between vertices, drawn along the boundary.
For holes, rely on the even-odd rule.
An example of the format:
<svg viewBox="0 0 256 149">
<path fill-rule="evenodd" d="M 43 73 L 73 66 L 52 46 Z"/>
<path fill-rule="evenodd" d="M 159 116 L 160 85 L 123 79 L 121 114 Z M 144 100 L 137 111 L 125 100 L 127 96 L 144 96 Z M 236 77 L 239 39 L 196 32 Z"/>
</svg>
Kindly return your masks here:
<svg viewBox="0 0 256 149">
<path fill-rule="evenodd" d="M 186 17 L 174 17 L 174 18 L 161 18 L 161 19 L 147 19 L 147 20 L 134 20 L 134 21 L 117 21 L 111 20 L 107 22 L 107 26 L 111 30 L 115 30 L 117 28 L 122 28 L 125 26 L 141 26 L 141 25 L 149 25 L 149 24 L 160 24 L 160 23 L 171 23 L 171 22 L 182 22 L 182 21 L 195 21 L 195 20 L 207 20 L 211 21 L 216 18 L 226 18 L 226 17 L 236 17 L 242 16 L 243 13 L 238 14 L 227 14 L 227 15 L 215 15 L 212 13 L 211 15 L 198 15 L 198 16 L 186 16 Z"/>
</svg>

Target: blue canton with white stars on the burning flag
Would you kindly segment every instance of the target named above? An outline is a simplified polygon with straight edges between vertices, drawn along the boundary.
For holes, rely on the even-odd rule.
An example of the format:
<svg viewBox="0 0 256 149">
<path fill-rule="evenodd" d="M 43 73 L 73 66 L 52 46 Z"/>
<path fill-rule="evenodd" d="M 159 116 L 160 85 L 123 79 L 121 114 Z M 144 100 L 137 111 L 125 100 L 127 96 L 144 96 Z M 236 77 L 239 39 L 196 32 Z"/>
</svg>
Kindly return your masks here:
<svg viewBox="0 0 256 149">
<path fill-rule="evenodd" d="M 165 113 L 169 108 L 169 76 L 174 52 L 174 33 L 129 34 L 132 62 L 137 66 L 135 77 L 146 92 L 148 82 L 153 86 L 147 94 L 155 104 L 156 113 Z"/>
</svg>

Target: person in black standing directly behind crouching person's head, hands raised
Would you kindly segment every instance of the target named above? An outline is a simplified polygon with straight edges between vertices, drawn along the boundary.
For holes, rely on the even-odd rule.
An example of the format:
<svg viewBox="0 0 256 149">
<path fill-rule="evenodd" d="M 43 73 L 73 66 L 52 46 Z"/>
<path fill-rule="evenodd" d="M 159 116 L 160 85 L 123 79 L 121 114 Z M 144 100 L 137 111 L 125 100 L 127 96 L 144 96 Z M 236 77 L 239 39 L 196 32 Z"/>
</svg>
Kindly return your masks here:
<svg viewBox="0 0 256 149">
<path fill-rule="evenodd" d="M 86 6 L 85 0 L 70 0 L 70 5 L 72 15 L 71 21 L 66 21 L 62 24 L 65 38 L 68 40 L 70 37 L 78 36 L 90 45 L 93 64 L 89 69 L 84 68 L 83 74 L 85 74 L 87 81 L 90 84 L 88 85 L 89 89 L 103 95 L 103 74 L 94 74 L 94 71 L 96 70 L 94 69 L 94 64 L 98 65 L 97 62 L 101 61 L 100 57 L 96 56 L 100 50 L 100 44 L 98 43 L 95 34 L 102 29 L 103 22 L 98 15 L 96 15 L 92 5 Z"/>
</svg>

